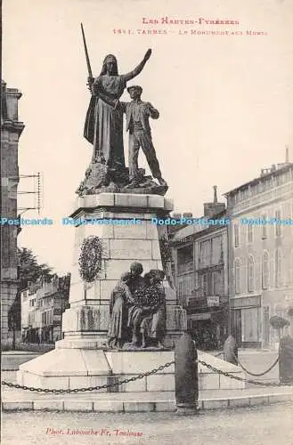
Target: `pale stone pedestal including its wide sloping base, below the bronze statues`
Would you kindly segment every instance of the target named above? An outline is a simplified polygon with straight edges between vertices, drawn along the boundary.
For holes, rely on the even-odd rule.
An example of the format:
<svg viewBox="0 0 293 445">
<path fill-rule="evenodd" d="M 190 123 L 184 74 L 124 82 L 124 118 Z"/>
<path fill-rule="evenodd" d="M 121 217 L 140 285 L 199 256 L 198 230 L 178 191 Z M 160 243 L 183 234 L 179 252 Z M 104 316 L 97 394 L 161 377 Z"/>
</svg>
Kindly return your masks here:
<svg viewBox="0 0 293 445">
<path fill-rule="evenodd" d="M 99 384 L 97 382 L 105 384 L 110 379 L 132 374 L 126 368 L 133 366 L 133 362 L 136 363 L 135 372 L 139 374 L 174 360 L 174 352 L 171 351 L 123 351 L 116 354 L 107 351 L 110 293 L 121 274 L 129 271 L 134 261 L 142 263 L 143 273 L 151 269 L 163 269 L 159 236 L 164 235 L 167 228 L 158 231 L 151 219 L 165 216 L 172 209 L 172 202 L 158 195 L 100 193 L 77 198 L 75 211 L 70 216 L 77 227 L 71 269 L 70 308 L 62 317 L 64 338 L 56 342 L 54 351 L 20 365 L 19 382 L 56 389 L 93 386 Z M 92 223 L 84 223 L 85 220 L 92 220 Z M 104 220 L 103 223 L 101 220 Z M 101 240 L 102 254 L 99 259 L 101 269 L 91 282 L 86 282 L 80 273 L 80 253 L 89 237 Z M 164 345 L 172 348 L 176 338 L 186 330 L 186 312 L 176 302 L 175 288 L 167 280 L 164 286 L 167 306 Z M 138 358 L 139 354 L 142 354 L 143 360 Z M 117 360 L 123 362 L 121 369 L 119 366 L 117 368 Z M 174 380 L 174 370 L 169 369 L 167 372 L 170 385 L 171 376 Z M 162 381 L 157 387 L 162 391 L 167 384 L 165 375 L 153 376 L 150 382 L 159 382 L 159 379 Z M 142 382 L 134 382 L 132 386 L 135 384 L 139 384 L 139 391 L 142 391 Z"/>
</svg>

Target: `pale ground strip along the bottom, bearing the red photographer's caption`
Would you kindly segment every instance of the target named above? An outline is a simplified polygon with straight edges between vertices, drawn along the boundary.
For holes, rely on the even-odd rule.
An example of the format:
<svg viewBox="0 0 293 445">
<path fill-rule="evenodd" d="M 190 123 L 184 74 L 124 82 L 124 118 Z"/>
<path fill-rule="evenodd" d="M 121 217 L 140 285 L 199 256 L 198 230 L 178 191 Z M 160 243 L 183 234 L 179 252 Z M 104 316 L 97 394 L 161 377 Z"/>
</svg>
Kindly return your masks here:
<svg viewBox="0 0 293 445">
<path fill-rule="evenodd" d="M 292 445 L 293 404 L 201 412 L 194 417 L 4 412 L 2 433 L 4 445 Z"/>
</svg>

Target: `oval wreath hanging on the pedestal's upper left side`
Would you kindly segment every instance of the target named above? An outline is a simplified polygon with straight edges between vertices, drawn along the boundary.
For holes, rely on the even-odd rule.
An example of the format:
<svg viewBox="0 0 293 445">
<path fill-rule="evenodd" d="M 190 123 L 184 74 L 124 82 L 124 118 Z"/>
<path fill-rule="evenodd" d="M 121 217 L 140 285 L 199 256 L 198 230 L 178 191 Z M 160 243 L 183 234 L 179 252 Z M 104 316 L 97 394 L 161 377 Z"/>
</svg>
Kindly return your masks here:
<svg viewBox="0 0 293 445">
<path fill-rule="evenodd" d="M 87 283 L 97 278 L 102 270 L 102 241 L 99 237 L 90 236 L 84 239 L 78 259 L 79 275 Z"/>
</svg>

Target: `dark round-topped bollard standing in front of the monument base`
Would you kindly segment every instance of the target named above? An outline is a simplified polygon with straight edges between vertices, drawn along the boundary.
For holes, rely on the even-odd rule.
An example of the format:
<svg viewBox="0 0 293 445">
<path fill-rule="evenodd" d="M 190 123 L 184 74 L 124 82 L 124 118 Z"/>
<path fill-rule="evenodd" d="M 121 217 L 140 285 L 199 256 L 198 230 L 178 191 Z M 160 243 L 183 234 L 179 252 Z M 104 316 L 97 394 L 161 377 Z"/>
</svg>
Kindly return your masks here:
<svg viewBox="0 0 293 445">
<path fill-rule="evenodd" d="M 175 397 L 179 415 L 197 414 L 199 399 L 198 352 L 187 333 L 175 345 Z"/>
</svg>

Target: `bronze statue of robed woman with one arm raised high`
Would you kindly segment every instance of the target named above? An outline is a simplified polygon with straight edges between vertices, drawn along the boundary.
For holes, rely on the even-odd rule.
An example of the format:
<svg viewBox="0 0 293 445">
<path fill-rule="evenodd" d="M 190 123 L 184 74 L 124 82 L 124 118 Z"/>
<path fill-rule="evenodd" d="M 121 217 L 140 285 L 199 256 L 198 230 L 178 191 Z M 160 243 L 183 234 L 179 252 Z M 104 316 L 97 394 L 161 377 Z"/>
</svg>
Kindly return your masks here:
<svg viewBox="0 0 293 445">
<path fill-rule="evenodd" d="M 126 82 L 138 76 L 151 57 L 151 49 L 133 71 L 118 75 L 114 55 L 105 57 L 99 77 L 88 78 L 92 99 L 85 118 L 85 139 L 94 145 L 92 162 L 103 162 L 112 170 L 125 167 L 123 147 L 123 111 L 113 104 L 126 89 Z"/>
</svg>

